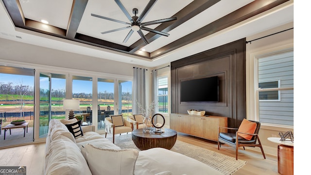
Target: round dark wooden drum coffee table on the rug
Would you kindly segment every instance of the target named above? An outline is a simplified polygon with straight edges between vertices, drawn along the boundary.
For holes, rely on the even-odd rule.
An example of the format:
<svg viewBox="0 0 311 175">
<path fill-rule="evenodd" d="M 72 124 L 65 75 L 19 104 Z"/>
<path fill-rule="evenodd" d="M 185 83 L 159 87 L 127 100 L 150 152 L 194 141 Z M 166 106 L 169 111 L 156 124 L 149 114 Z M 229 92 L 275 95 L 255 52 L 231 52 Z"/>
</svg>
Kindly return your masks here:
<svg viewBox="0 0 311 175">
<path fill-rule="evenodd" d="M 165 128 L 164 133 L 144 133 L 143 129 L 132 131 L 132 140 L 139 150 L 147 150 L 157 147 L 170 150 L 173 148 L 176 139 L 177 132 L 173 129 Z"/>
</svg>

